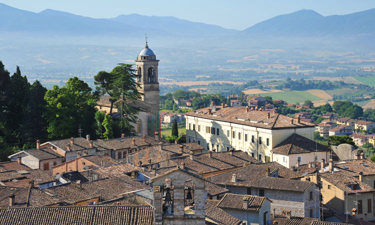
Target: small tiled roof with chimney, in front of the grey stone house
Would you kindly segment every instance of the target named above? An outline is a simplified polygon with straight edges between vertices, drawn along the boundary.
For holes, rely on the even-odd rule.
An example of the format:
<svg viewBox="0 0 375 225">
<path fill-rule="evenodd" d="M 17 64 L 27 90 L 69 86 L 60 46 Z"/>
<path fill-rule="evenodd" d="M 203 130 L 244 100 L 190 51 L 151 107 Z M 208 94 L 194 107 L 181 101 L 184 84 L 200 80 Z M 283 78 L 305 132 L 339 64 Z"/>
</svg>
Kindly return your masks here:
<svg viewBox="0 0 375 225">
<path fill-rule="evenodd" d="M 243 199 L 248 199 L 247 208 L 243 207 Z M 219 208 L 228 208 L 228 209 L 237 209 L 243 211 L 259 211 L 263 205 L 266 197 L 259 197 L 253 195 L 245 194 L 232 194 L 226 193 L 218 202 L 217 207 Z"/>
</svg>

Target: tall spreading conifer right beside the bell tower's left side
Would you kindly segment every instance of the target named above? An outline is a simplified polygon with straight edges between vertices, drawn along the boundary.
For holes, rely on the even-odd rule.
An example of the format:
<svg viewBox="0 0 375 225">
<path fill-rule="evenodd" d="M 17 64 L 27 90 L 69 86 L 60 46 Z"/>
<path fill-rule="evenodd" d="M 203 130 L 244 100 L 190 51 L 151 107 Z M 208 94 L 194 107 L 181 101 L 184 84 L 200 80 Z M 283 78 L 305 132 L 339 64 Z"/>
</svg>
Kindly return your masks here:
<svg viewBox="0 0 375 225">
<path fill-rule="evenodd" d="M 111 71 L 114 76 L 113 87 L 114 96 L 118 97 L 119 102 L 117 108 L 120 112 L 121 133 L 130 135 L 135 133 L 134 126 L 131 123 L 137 123 L 137 114 L 139 108 L 134 106 L 135 100 L 141 98 L 142 93 L 139 92 L 139 83 L 135 82 L 137 74 L 132 69 L 131 64 L 118 63 Z"/>
</svg>

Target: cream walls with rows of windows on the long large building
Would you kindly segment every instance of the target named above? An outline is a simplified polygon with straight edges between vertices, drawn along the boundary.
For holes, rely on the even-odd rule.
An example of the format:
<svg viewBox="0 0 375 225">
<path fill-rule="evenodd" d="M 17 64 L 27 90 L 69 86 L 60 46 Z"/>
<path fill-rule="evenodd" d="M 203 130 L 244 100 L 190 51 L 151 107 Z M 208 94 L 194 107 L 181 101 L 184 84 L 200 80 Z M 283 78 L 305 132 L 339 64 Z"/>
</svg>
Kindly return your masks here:
<svg viewBox="0 0 375 225">
<path fill-rule="evenodd" d="M 186 140 L 195 140 L 201 146 L 207 149 L 217 148 L 217 151 L 226 151 L 229 148 L 236 150 L 242 150 L 258 159 L 258 155 L 261 154 L 261 161 L 270 161 L 271 152 L 270 150 L 285 138 L 290 136 L 292 133 L 305 136 L 309 139 L 313 138 L 314 127 L 302 127 L 292 129 L 265 129 L 249 125 L 230 123 L 224 121 L 217 121 L 207 118 L 200 118 L 196 116 L 185 115 L 186 118 Z M 191 129 L 188 129 L 189 123 Z M 192 130 L 192 124 L 195 124 L 195 130 Z M 200 131 L 199 131 L 200 125 Z M 206 127 L 214 127 L 215 134 L 207 133 Z M 219 135 L 217 135 L 217 128 L 219 128 Z M 235 132 L 234 138 L 232 132 Z M 240 139 L 238 138 L 240 133 Z M 229 134 L 229 135 L 227 135 Z M 245 141 L 245 134 L 247 134 L 247 141 Z M 252 135 L 254 135 L 254 142 L 252 142 Z M 259 137 L 261 137 L 261 144 L 259 143 Z M 267 138 L 269 139 L 268 145 Z M 267 156 L 268 158 L 266 158 Z M 267 160 L 266 160 L 267 159 Z"/>
</svg>

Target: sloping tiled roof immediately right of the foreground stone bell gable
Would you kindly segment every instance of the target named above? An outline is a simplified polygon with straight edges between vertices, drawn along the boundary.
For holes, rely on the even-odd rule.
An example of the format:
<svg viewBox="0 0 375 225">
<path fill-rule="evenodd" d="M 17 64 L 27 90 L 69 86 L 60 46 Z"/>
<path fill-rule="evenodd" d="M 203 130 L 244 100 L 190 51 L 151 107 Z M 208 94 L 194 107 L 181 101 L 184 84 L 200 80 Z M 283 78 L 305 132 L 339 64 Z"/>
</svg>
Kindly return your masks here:
<svg viewBox="0 0 375 225">
<path fill-rule="evenodd" d="M 218 202 L 218 200 L 205 200 L 206 220 L 209 219 L 213 221 L 212 224 L 219 225 L 239 225 L 242 223 L 241 220 L 216 207 Z"/>
</svg>

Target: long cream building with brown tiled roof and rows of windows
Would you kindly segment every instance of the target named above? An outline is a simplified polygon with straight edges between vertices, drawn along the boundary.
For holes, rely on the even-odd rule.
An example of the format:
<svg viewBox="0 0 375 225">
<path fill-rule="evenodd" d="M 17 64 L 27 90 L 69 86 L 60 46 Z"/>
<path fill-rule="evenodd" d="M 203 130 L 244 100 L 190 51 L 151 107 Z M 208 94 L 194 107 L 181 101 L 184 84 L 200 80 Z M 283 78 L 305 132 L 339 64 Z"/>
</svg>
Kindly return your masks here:
<svg viewBox="0 0 375 225">
<path fill-rule="evenodd" d="M 186 142 L 206 149 L 247 152 L 274 161 L 271 149 L 293 133 L 313 139 L 314 124 L 261 109 L 210 106 L 185 113 Z"/>
</svg>

